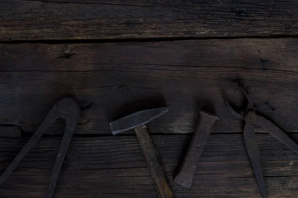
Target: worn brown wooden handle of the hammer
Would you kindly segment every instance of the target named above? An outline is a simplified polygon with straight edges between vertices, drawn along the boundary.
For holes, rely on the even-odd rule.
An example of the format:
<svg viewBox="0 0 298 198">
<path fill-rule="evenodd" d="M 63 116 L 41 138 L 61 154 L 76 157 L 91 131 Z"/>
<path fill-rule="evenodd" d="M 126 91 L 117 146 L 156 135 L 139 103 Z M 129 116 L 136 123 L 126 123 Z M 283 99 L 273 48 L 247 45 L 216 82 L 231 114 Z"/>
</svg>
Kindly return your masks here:
<svg viewBox="0 0 298 198">
<path fill-rule="evenodd" d="M 137 134 L 150 174 L 154 179 L 159 198 L 173 198 L 173 193 L 165 179 L 159 155 L 153 145 L 146 125 L 136 127 L 134 130 Z"/>
</svg>

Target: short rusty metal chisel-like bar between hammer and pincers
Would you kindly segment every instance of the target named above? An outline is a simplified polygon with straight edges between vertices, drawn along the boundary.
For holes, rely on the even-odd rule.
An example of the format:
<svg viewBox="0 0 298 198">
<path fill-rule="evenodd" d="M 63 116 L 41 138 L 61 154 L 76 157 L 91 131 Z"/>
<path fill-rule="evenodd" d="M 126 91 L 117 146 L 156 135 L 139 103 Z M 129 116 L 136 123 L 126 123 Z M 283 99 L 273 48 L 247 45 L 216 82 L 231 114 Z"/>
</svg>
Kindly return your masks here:
<svg viewBox="0 0 298 198">
<path fill-rule="evenodd" d="M 197 130 L 194 132 L 182 165 L 174 179 L 174 183 L 186 188 L 191 186 L 194 172 L 197 168 L 197 164 L 203 152 L 207 138 L 215 121 L 218 119 L 220 119 L 218 116 L 200 111 L 199 125 Z"/>
</svg>

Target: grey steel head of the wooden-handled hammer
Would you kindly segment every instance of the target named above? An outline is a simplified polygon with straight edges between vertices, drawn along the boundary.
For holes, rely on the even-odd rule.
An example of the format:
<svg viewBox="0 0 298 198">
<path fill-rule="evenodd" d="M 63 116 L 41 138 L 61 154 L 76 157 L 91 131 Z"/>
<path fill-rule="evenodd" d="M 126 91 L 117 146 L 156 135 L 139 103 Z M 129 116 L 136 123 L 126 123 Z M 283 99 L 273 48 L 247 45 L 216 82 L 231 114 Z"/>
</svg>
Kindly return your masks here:
<svg viewBox="0 0 298 198">
<path fill-rule="evenodd" d="M 167 107 L 147 109 L 110 122 L 113 135 L 129 131 L 168 112 Z"/>
</svg>

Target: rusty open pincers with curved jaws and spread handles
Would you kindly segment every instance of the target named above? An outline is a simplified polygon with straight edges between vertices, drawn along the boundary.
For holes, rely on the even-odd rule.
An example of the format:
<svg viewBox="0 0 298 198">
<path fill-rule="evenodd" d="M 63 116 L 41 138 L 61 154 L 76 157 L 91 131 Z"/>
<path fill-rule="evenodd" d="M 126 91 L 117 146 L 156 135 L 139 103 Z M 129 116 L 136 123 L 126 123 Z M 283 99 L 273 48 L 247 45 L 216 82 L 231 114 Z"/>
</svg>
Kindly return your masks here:
<svg viewBox="0 0 298 198">
<path fill-rule="evenodd" d="M 240 89 L 242 90 L 243 94 L 245 95 L 248 101 L 245 111 L 238 113 L 229 105 L 229 103 L 226 100 L 224 100 L 224 102 L 234 116 L 236 116 L 237 118 L 245 122 L 243 135 L 244 135 L 246 150 L 250 158 L 250 162 L 254 170 L 261 194 L 263 198 L 268 198 L 264 177 L 262 174 L 262 167 L 260 163 L 258 145 L 256 142 L 256 136 L 254 133 L 254 125 L 258 125 L 263 130 L 267 131 L 273 137 L 275 137 L 276 139 L 278 139 L 288 147 L 292 148 L 297 153 L 298 153 L 298 145 L 293 140 L 291 140 L 285 134 L 285 132 L 283 132 L 279 127 L 277 127 L 271 121 L 267 120 L 261 115 L 256 114 L 253 103 L 249 98 L 248 94 L 242 88 Z"/>
</svg>

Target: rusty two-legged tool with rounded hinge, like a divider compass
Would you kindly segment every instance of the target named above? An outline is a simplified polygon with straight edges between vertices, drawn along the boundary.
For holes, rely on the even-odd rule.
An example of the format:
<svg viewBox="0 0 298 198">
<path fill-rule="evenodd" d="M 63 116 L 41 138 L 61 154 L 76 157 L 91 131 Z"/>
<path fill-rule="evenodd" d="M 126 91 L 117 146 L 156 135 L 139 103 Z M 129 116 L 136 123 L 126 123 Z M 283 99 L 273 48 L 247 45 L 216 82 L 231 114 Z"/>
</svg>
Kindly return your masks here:
<svg viewBox="0 0 298 198">
<path fill-rule="evenodd" d="M 0 185 L 5 181 L 5 179 L 12 173 L 21 159 L 28 153 L 28 151 L 35 145 L 38 139 L 46 132 L 49 126 L 57 119 L 64 118 L 66 120 L 66 127 L 64 136 L 62 139 L 62 143 L 60 145 L 54 169 L 51 175 L 51 179 L 48 185 L 48 189 L 45 195 L 45 198 L 51 198 L 54 193 L 54 189 L 58 180 L 58 176 L 60 174 L 62 163 L 64 161 L 67 149 L 71 142 L 74 128 L 77 124 L 77 120 L 79 117 L 80 109 L 76 102 L 76 100 L 72 98 L 63 98 L 58 100 L 51 108 L 49 114 L 38 127 L 37 131 L 33 134 L 33 136 L 26 143 L 24 148 L 18 153 L 18 155 L 13 159 L 13 161 L 6 168 L 4 173 L 0 177 Z"/>
</svg>

